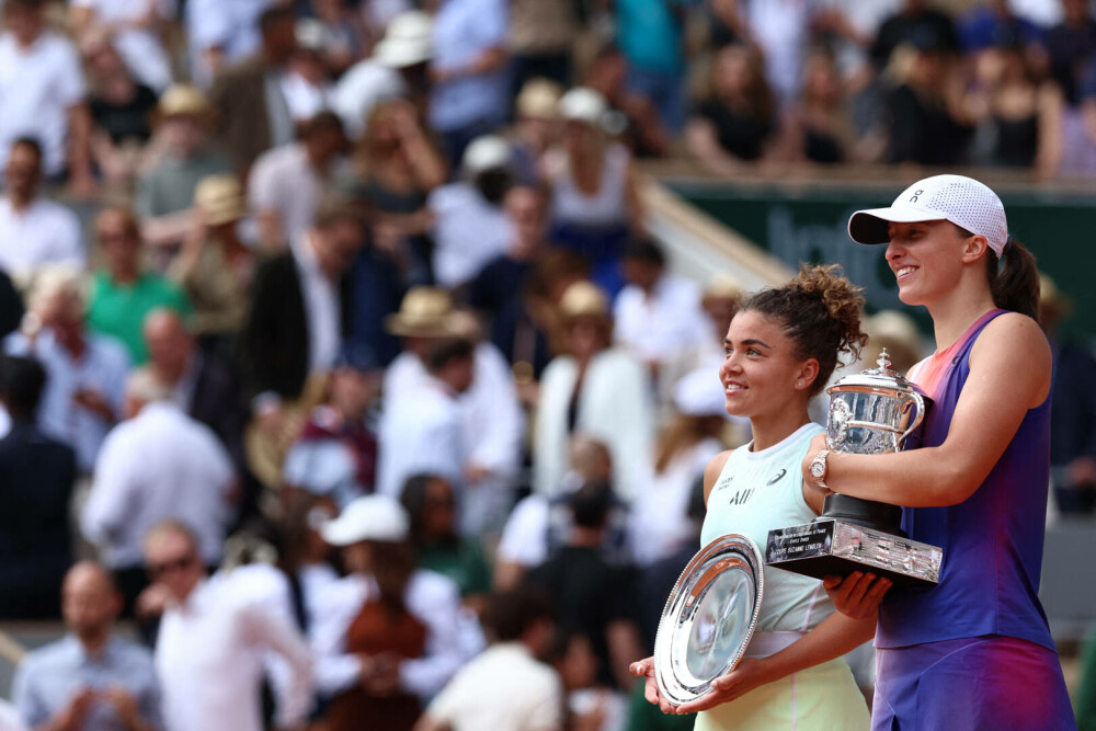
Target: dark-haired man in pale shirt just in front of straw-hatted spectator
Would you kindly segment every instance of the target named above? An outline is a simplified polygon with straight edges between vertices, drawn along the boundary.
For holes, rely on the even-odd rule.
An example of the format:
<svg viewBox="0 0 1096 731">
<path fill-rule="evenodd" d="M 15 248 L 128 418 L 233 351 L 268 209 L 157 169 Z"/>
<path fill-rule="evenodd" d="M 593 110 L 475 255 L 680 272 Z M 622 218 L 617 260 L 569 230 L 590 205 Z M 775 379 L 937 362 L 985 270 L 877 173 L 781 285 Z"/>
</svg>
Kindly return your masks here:
<svg viewBox="0 0 1096 731">
<path fill-rule="evenodd" d="M 421 472 L 439 475 L 453 486 L 465 483 L 468 450 L 458 399 L 472 385 L 473 352 L 464 339 L 435 342 L 423 361 L 426 376 L 381 415 L 381 494 L 399 498 L 407 479 Z"/>
</svg>

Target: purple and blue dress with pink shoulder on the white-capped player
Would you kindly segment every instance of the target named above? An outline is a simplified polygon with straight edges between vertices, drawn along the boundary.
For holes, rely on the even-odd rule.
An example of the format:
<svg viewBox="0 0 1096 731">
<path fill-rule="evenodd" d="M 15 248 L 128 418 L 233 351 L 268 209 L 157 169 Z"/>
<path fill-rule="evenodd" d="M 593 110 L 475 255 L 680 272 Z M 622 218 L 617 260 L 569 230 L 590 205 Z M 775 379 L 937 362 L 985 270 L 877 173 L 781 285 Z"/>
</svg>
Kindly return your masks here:
<svg viewBox="0 0 1096 731">
<path fill-rule="evenodd" d="M 934 400 L 923 446 L 947 438 L 974 341 L 1004 312 L 986 312 L 911 372 Z M 939 585 L 894 587 L 879 608 L 872 731 L 1076 729 L 1038 596 L 1049 470 L 1048 398 L 973 495 L 903 510 L 902 528 L 943 547 L 944 564 Z"/>
</svg>

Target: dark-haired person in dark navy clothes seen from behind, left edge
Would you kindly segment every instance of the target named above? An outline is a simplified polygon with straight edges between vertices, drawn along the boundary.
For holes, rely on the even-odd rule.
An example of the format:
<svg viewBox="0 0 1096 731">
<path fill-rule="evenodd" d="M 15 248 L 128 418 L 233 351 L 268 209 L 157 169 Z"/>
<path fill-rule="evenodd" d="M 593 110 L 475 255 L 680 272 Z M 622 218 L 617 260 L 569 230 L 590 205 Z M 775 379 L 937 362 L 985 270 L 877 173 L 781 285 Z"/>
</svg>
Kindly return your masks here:
<svg viewBox="0 0 1096 731">
<path fill-rule="evenodd" d="M 0 359 L 0 401 L 11 419 L 0 437 L 0 617 L 56 617 L 58 586 L 72 561 L 69 502 L 76 455 L 36 425 L 46 372 L 30 358 Z"/>
</svg>

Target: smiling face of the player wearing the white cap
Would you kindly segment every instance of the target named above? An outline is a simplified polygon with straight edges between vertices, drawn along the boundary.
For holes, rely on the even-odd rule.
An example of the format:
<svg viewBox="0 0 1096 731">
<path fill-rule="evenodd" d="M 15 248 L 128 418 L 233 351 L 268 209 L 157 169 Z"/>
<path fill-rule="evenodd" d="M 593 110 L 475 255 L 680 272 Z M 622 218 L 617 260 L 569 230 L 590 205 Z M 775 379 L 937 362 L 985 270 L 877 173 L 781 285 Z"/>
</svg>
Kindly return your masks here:
<svg viewBox="0 0 1096 731">
<path fill-rule="evenodd" d="M 929 305 L 956 289 L 970 255 L 955 224 L 891 224 L 887 230 L 887 264 L 898 278 L 903 302 Z"/>
</svg>

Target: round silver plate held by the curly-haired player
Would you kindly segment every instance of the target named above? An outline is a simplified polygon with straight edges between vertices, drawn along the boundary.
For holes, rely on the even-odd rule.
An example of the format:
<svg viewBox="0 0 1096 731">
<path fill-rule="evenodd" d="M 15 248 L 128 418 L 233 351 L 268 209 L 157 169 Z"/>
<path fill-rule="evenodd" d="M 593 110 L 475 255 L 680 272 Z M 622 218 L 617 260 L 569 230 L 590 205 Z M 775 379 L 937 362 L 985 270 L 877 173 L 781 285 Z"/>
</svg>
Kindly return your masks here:
<svg viewBox="0 0 1096 731">
<path fill-rule="evenodd" d="M 654 678 L 673 706 L 701 698 L 750 644 L 765 590 L 757 545 L 739 534 L 693 557 L 674 584 L 654 640 Z"/>
</svg>

